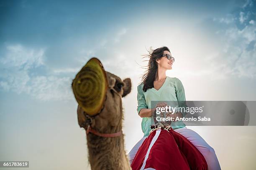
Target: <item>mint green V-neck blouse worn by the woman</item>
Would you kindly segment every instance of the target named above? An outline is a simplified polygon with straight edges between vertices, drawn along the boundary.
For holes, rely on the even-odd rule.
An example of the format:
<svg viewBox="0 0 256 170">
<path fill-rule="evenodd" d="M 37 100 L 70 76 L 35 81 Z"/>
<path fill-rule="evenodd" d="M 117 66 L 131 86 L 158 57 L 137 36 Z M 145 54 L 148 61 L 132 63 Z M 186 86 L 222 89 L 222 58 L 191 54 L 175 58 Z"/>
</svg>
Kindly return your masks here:
<svg viewBox="0 0 256 170">
<path fill-rule="evenodd" d="M 139 113 L 141 109 L 148 108 L 151 109 L 151 101 L 172 101 L 172 107 L 176 105 L 179 107 L 187 107 L 186 105 L 186 97 L 184 92 L 184 87 L 182 82 L 176 77 L 168 77 L 164 81 L 164 84 L 159 90 L 156 90 L 154 87 L 151 89 L 147 89 L 146 92 L 143 91 L 143 82 L 137 86 L 137 100 L 138 107 L 137 112 Z M 182 102 L 183 101 L 183 102 Z M 153 103 L 153 102 L 152 102 Z M 168 102 L 167 102 L 168 103 Z M 152 108 L 154 108 L 152 106 Z M 186 112 L 182 112 L 183 117 L 186 115 Z M 149 135 L 151 130 L 151 124 L 153 120 L 153 116 L 151 117 L 143 117 L 141 122 L 141 128 L 144 133 L 144 137 Z M 171 123 L 173 129 L 183 128 L 186 125 L 182 121 L 173 121 Z"/>
</svg>

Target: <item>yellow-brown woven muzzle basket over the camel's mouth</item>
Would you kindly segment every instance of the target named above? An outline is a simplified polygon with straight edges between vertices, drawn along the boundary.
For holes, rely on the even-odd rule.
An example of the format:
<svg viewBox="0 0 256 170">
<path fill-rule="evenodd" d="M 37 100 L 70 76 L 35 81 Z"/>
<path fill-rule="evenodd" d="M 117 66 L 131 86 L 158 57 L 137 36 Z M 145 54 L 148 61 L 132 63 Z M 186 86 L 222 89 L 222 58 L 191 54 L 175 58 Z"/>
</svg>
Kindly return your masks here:
<svg viewBox="0 0 256 170">
<path fill-rule="evenodd" d="M 72 90 L 78 104 L 90 116 L 103 107 L 108 89 L 107 75 L 99 59 L 92 57 L 77 73 Z"/>
</svg>

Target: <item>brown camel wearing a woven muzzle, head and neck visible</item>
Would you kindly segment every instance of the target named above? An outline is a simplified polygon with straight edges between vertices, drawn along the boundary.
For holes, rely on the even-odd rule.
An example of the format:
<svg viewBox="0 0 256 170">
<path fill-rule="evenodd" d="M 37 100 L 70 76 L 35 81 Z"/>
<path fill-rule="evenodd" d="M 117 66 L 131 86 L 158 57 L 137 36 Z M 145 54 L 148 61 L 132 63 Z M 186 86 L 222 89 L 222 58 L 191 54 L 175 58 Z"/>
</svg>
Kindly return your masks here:
<svg viewBox="0 0 256 170">
<path fill-rule="evenodd" d="M 131 170 L 124 150 L 122 97 L 131 92 L 131 79 L 104 70 L 91 58 L 72 81 L 80 128 L 86 130 L 92 170 Z"/>
</svg>

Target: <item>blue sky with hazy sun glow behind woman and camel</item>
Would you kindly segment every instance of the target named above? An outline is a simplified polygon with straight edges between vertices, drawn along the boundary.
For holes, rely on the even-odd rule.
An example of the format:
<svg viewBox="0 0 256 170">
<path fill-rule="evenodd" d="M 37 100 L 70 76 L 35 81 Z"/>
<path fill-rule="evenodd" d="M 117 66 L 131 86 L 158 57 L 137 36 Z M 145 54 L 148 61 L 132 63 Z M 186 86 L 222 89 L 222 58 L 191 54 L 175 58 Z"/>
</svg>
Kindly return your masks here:
<svg viewBox="0 0 256 170">
<path fill-rule="evenodd" d="M 90 169 L 71 82 L 91 57 L 131 78 L 127 153 L 143 137 L 136 87 L 150 47 L 169 47 L 175 62 L 166 75 L 182 81 L 186 100 L 256 101 L 255 11 L 255 0 L 1 0 L 0 160 Z M 214 148 L 222 169 L 256 169 L 255 126 L 187 128 Z"/>
</svg>

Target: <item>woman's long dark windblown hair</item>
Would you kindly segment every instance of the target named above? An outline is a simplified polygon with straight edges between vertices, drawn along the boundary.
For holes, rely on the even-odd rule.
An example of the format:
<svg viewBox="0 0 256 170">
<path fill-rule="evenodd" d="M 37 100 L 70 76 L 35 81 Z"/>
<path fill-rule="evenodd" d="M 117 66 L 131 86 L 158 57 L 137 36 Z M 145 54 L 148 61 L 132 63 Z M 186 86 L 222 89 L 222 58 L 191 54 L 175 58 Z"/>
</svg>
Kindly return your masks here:
<svg viewBox="0 0 256 170">
<path fill-rule="evenodd" d="M 149 60 L 144 60 L 148 61 L 148 65 L 146 66 L 146 71 L 142 75 L 141 78 L 141 83 L 143 82 L 143 91 L 146 92 L 148 88 L 153 88 L 154 87 L 154 80 L 156 77 L 156 72 L 157 72 L 157 62 L 156 59 L 161 58 L 164 51 L 169 51 L 169 48 L 164 46 L 160 48 L 156 48 L 155 50 L 150 47 L 150 50 L 147 50 L 149 52 L 148 55 L 143 55 L 145 57 L 149 57 Z M 144 57 L 143 57 L 144 58 Z"/>
</svg>

